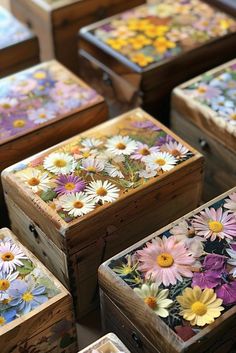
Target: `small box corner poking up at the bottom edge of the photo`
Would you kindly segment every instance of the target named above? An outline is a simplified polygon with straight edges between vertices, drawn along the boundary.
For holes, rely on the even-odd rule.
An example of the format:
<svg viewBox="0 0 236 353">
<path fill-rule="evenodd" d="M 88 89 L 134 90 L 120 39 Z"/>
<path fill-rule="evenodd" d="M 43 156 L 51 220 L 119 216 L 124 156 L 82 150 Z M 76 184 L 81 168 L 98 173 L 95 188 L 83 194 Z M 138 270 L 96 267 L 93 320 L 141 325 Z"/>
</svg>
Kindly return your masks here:
<svg viewBox="0 0 236 353">
<path fill-rule="evenodd" d="M 109 333 L 78 353 L 130 353 L 114 333 Z"/>
</svg>

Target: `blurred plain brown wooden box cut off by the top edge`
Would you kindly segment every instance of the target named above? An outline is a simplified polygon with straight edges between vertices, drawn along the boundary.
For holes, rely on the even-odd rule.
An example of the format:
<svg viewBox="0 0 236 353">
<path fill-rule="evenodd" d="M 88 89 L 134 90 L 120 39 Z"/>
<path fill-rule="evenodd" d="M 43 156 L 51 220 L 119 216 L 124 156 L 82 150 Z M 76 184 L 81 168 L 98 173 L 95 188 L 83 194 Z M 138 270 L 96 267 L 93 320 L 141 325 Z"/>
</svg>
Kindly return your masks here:
<svg viewBox="0 0 236 353">
<path fill-rule="evenodd" d="M 55 57 L 76 72 L 79 28 L 142 3 L 144 0 L 10 0 L 14 15 L 37 33 L 41 59 Z"/>
</svg>

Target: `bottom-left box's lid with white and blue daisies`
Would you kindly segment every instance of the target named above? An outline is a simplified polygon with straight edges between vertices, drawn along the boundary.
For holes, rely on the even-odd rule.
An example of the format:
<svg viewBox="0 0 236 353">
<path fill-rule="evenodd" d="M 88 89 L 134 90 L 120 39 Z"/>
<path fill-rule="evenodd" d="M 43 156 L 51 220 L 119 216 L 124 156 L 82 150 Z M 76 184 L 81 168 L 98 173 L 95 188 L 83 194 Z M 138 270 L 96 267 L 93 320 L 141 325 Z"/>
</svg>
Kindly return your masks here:
<svg viewBox="0 0 236 353">
<path fill-rule="evenodd" d="M 58 311 L 60 305 L 64 303 L 67 308 L 69 303 L 72 308 L 72 299 L 7 228 L 0 229 L 0 254 L 0 340 L 1 345 L 5 341 L 9 352 L 9 344 L 14 347 L 38 334 L 42 327 L 47 329 L 55 324 L 55 307 Z M 2 352 L 6 352 L 5 345 Z"/>
</svg>

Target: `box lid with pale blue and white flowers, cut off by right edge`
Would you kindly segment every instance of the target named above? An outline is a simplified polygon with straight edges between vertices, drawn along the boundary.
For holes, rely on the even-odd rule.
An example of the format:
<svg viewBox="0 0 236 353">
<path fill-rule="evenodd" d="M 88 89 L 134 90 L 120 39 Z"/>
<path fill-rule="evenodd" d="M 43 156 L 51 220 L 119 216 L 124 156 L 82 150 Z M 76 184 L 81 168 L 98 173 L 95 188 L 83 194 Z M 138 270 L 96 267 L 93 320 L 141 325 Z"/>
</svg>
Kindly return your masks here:
<svg viewBox="0 0 236 353">
<path fill-rule="evenodd" d="M 236 149 L 236 59 L 175 88 L 172 109 Z"/>
</svg>

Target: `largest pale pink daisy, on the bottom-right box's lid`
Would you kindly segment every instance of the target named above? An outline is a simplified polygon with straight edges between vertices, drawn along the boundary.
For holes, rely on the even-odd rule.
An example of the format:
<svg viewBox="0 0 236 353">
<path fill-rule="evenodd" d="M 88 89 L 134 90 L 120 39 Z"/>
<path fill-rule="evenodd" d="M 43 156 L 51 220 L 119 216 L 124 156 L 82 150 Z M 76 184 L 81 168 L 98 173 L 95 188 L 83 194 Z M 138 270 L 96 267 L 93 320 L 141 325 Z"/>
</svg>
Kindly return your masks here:
<svg viewBox="0 0 236 353">
<path fill-rule="evenodd" d="M 188 253 L 184 244 L 178 243 L 174 236 L 153 239 L 146 248 L 137 251 L 139 270 L 146 279 L 152 279 L 158 285 L 174 285 L 183 277 L 192 277 L 190 266 L 195 259 Z"/>
</svg>

